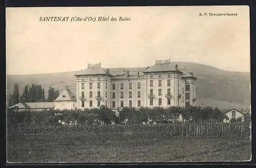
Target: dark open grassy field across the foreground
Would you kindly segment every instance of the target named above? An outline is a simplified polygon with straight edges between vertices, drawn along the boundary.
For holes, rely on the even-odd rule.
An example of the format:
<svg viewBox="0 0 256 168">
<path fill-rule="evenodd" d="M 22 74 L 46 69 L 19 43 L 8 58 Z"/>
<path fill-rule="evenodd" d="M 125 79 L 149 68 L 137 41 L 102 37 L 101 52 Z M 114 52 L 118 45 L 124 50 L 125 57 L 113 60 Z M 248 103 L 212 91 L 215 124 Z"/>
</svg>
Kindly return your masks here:
<svg viewBox="0 0 256 168">
<path fill-rule="evenodd" d="M 161 132 L 69 132 L 7 137 L 8 162 L 175 162 L 250 160 L 250 140 L 164 139 Z"/>
</svg>

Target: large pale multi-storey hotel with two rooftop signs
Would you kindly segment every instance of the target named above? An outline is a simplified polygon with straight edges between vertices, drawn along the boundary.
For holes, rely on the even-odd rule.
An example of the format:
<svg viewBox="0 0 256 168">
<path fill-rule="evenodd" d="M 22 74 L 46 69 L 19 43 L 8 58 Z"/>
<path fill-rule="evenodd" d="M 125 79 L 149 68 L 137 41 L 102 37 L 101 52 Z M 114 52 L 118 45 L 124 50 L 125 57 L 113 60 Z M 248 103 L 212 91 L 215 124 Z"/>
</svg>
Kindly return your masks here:
<svg viewBox="0 0 256 168">
<path fill-rule="evenodd" d="M 88 64 L 75 76 L 80 109 L 196 105 L 197 78 L 170 60 L 156 60 L 145 68 L 104 69 L 101 63 Z"/>
</svg>

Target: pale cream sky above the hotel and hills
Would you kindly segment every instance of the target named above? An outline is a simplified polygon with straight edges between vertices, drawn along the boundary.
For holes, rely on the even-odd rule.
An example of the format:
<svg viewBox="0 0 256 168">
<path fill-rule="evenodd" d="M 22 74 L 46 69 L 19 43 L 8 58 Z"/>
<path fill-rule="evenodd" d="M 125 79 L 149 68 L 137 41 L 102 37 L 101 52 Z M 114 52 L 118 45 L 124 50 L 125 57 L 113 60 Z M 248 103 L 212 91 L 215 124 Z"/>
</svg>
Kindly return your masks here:
<svg viewBox="0 0 256 168">
<path fill-rule="evenodd" d="M 39 21 L 46 16 L 69 20 Z M 130 20 L 71 22 L 74 16 Z M 250 72 L 248 6 L 7 8 L 6 28 L 7 75 L 81 70 L 88 62 L 145 67 L 169 58 Z"/>
</svg>

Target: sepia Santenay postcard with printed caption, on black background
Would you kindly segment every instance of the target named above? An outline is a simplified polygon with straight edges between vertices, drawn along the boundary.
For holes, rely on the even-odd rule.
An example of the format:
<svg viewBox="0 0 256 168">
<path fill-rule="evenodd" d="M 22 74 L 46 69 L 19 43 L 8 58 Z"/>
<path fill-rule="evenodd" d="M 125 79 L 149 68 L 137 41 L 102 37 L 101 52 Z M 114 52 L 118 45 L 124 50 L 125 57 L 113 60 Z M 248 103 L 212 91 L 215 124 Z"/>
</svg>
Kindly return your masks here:
<svg viewBox="0 0 256 168">
<path fill-rule="evenodd" d="M 248 6 L 6 8 L 8 163 L 251 160 Z"/>
</svg>

